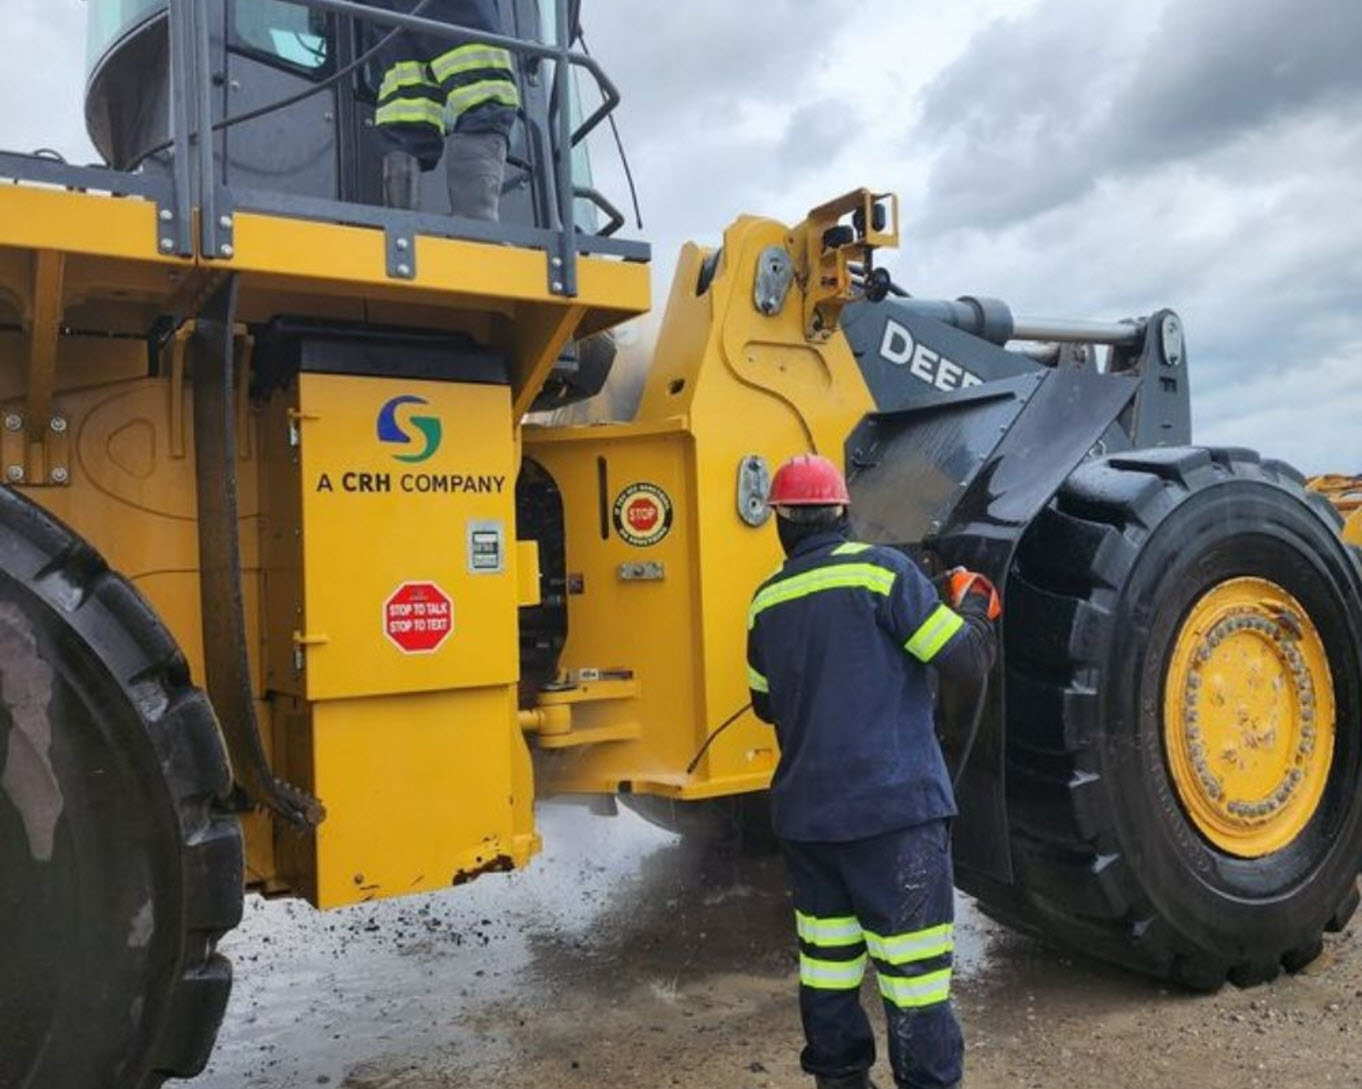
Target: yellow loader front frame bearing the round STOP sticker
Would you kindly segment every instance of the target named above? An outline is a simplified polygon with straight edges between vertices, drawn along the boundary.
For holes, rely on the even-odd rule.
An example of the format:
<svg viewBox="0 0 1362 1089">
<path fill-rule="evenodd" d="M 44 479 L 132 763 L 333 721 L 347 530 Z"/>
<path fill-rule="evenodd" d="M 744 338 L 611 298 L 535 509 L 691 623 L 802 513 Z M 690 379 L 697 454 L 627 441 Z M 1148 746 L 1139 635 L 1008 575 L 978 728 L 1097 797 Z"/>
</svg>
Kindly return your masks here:
<svg viewBox="0 0 1362 1089">
<path fill-rule="evenodd" d="M 613 668 L 637 683 L 636 694 L 573 704 L 579 747 L 571 735 L 541 739 L 565 750 L 539 757 L 542 794 L 699 799 L 770 783 L 775 736 L 745 709 L 746 608 L 782 554 L 770 521 L 740 516 L 741 468 L 760 457 L 774 471 L 810 449 L 840 461 L 843 440 L 873 407 L 846 340 L 805 338 L 798 290 L 779 313 L 756 309 L 753 279 L 771 246 L 797 248 L 795 235 L 740 219 L 703 294 L 706 255 L 682 252 L 632 423 L 526 432 L 527 456 L 561 490 L 568 581 L 580 589 L 568 598 L 563 666 L 569 679 Z M 629 525 L 640 498 L 642 523 Z M 625 736 L 591 743 L 607 727 Z"/>
</svg>

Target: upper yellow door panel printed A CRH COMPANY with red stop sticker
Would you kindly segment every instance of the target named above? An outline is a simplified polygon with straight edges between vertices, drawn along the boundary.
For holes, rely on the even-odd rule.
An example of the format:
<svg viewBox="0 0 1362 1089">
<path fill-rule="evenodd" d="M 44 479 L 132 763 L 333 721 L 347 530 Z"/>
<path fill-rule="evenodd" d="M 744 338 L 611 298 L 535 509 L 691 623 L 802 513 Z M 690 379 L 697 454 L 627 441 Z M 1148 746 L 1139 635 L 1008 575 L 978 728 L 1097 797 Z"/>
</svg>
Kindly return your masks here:
<svg viewBox="0 0 1362 1089">
<path fill-rule="evenodd" d="M 511 391 L 304 374 L 298 412 L 306 697 L 513 685 Z"/>
</svg>

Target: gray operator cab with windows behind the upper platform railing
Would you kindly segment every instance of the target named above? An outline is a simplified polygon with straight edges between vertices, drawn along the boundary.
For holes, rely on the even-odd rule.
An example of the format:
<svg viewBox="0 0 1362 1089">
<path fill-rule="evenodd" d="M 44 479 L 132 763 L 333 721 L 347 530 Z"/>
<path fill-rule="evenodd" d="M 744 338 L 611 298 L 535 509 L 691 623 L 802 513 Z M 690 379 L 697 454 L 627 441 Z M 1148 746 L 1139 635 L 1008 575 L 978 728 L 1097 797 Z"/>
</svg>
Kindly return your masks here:
<svg viewBox="0 0 1362 1089">
<path fill-rule="evenodd" d="M 188 90 L 170 61 L 170 0 L 90 0 L 86 121 L 95 147 L 118 170 L 168 166 L 173 105 Z M 557 39 L 553 4 L 500 0 L 497 7 L 504 35 Z M 380 204 L 385 144 L 375 109 L 384 72 L 372 53 L 392 27 L 285 0 L 207 0 L 203 10 L 219 184 L 301 200 Z M 383 15 L 375 10 L 376 18 Z M 554 61 L 520 56 L 516 67 L 523 108 L 511 133 L 501 218 L 552 227 L 558 222 L 554 172 L 543 167 L 557 155 L 550 131 Z M 602 221 L 607 206 L 591 189 L 577 131 L 576 68 L 569 88 L 576 219 L 586 233 L 601 230 L 602 222 L 613 233 L 620 223 L 613 210 Z M 602 101 L 613 105 L 613 88 L 601 90 Z M 419 208 L 448 214 L 440 172 L 424 177 Z"/>
</svg>

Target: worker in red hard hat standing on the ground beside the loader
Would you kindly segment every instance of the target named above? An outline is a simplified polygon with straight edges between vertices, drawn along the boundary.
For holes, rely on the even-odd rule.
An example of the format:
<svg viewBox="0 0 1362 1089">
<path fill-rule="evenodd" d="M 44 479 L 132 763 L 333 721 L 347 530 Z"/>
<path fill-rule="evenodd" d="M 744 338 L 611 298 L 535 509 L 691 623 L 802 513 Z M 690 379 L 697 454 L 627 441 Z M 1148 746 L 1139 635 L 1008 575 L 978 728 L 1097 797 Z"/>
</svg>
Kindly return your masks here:
<svg viewBox="0 0 1362 1089">
<path fill-rule="evenodd" d="M 748 683 L 780 743 L 771 807 L 794 892 L 802 1066 L 819 1089 L 870 1085 L 869 957 L 896 1085 L 955 1086 L 956 809 L 928 670 L 983 683 L 997 594 L 957 569 L 944 604 L 906 555 L 850 540 L 846 482 L 825 457 L 782 466 L 770 504 L 787 558 L 752 599 Z"/>
</svg>

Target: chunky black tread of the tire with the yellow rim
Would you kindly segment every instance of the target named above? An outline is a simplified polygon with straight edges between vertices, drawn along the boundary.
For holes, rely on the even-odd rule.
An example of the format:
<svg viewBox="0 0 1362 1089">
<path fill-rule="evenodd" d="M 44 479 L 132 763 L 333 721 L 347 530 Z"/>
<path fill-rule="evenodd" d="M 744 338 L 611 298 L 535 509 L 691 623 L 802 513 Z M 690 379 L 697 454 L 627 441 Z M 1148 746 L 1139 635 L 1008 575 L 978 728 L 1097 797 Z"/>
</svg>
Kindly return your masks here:
<svg viewBox="0 0 1362 1089">
<path fill-rule="evenodd" d="M 1004 922 L 1199 991 L 1298 971 L 1317 954 L 1318 939 L 1227 961 L 1186 947 L 1163 923 L 1117 845 L 1110 806 L 1118 803 L 1092 751 L 1100 732 L 1098 679 L 1083 678 L 1102 659 L 1106 606 L 1152 527 L 1188 491 L 1229 478 L 1268 482 L 1310 502 L 1301 474 L 1253 451 L 1137 451 L 1076 470 L 1023 536 L 1008 606 L 1028 622 L 1024 634 L 1016 628 L 1005 634 L 1009 702 L 1016 698 L 1005 760 L 1017 885 L 996 912 L 983 896 L 985 912 Z M 1327 928 L 1346 926 L 1358 900 L 1354 888 Z"/>
</svg>

